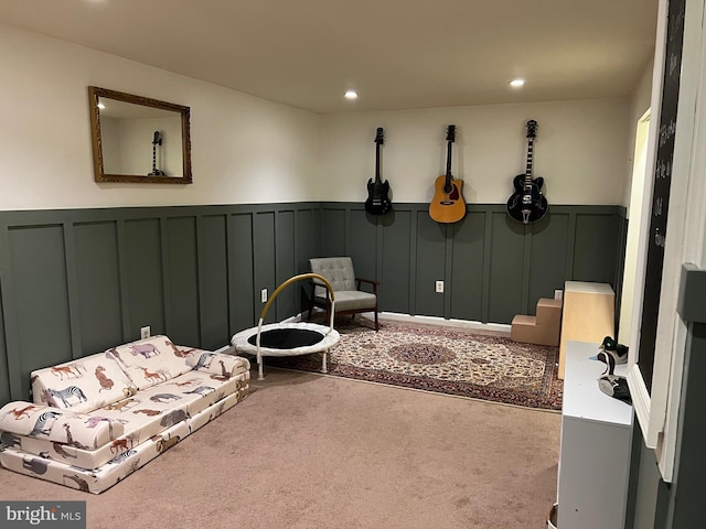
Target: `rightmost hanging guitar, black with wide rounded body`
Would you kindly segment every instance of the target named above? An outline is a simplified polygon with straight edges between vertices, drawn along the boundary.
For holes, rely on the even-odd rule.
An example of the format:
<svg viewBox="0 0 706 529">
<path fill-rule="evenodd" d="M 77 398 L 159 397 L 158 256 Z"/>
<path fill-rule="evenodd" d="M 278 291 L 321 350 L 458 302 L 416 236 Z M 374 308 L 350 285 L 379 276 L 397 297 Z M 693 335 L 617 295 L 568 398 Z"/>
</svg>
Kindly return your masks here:
<svg viewBox="0 0 706 529">
<path fill-rule="evenodd" d="M 547 199 L 542 194 L 544 179 L 532 177 L 532 156 L 534 139 L 537 137 L 537 122 L 534 119 L 527 121 L 527 165 L 524 174 L 518 174 L 513 180 L 515 192 L 507 199 L 507 215 L 518 223 L 530 224 L 544 218 L 547 214 Z"/>
</svg>

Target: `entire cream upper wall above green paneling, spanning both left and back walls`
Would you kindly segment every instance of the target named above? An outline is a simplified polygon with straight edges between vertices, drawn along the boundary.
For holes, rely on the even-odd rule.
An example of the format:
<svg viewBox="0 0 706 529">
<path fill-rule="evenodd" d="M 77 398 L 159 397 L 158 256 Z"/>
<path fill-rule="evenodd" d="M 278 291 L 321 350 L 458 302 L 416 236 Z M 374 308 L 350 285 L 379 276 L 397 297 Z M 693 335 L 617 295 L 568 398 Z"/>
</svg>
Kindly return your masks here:
<svg viewBox="0 0 706 529">
<path fill-rule="evenodd" d="M 457 125 L 469 203 L 504 203 L 538 121 L 535 175 L 550 204 L 625 204 L 629 98 L 319 116 L 0 24 L 0 209 L 364 201 L 376 127 L 393 201 L 428 202 Z M 97 184 L 87 86 L 191 107 L 194 184 Z M 9 123 L 9 125 L 8 125 Z"/>
</svg>

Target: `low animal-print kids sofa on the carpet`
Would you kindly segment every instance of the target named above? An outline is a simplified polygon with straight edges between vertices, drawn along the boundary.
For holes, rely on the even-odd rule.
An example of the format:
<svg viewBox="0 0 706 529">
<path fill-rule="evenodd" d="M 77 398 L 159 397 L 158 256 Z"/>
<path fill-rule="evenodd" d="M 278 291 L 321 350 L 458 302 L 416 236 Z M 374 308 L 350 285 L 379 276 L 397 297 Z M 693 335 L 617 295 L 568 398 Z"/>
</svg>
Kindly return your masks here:
<svg viewBox="0 0 706 529">
<path fill-rule="evenodd" d="M 0 409 L 0 464 L 101 493 L 243 400 L 249 368 L 153 336 L 33 371 L 34 402 Z"/>
</svg>

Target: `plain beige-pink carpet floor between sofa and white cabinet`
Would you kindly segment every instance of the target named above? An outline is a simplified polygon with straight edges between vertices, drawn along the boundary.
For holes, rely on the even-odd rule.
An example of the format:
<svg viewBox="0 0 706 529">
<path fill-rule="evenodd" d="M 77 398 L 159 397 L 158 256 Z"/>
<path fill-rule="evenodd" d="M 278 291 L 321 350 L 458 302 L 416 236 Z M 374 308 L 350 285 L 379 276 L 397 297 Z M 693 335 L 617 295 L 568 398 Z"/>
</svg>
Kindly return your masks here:
<svg viewBox="0 0 706 529">
<path fill-rule="evenodd" d="M 0 499 L 86 500 L 92 529 L 546 527 L 560 414 L 270 368 L 101 495 L 0 469 Z"/>
</svg>

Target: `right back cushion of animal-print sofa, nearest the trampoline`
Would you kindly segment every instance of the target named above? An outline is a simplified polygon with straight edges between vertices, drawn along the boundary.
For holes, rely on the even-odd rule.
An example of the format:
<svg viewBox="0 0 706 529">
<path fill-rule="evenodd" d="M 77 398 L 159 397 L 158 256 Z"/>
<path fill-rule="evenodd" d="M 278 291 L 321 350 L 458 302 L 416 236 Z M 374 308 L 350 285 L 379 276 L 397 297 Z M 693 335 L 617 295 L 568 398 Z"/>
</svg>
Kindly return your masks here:
<svg viewBox="0 0 706 529">
<path fill-rule="evenodd" d="M 151 388 L 191 370 L 186 363 L 194 349 L 178 347 L 167 336 L 152 336 L 106 350 L 130 377 L 137 389 Z"/>
</svg>

